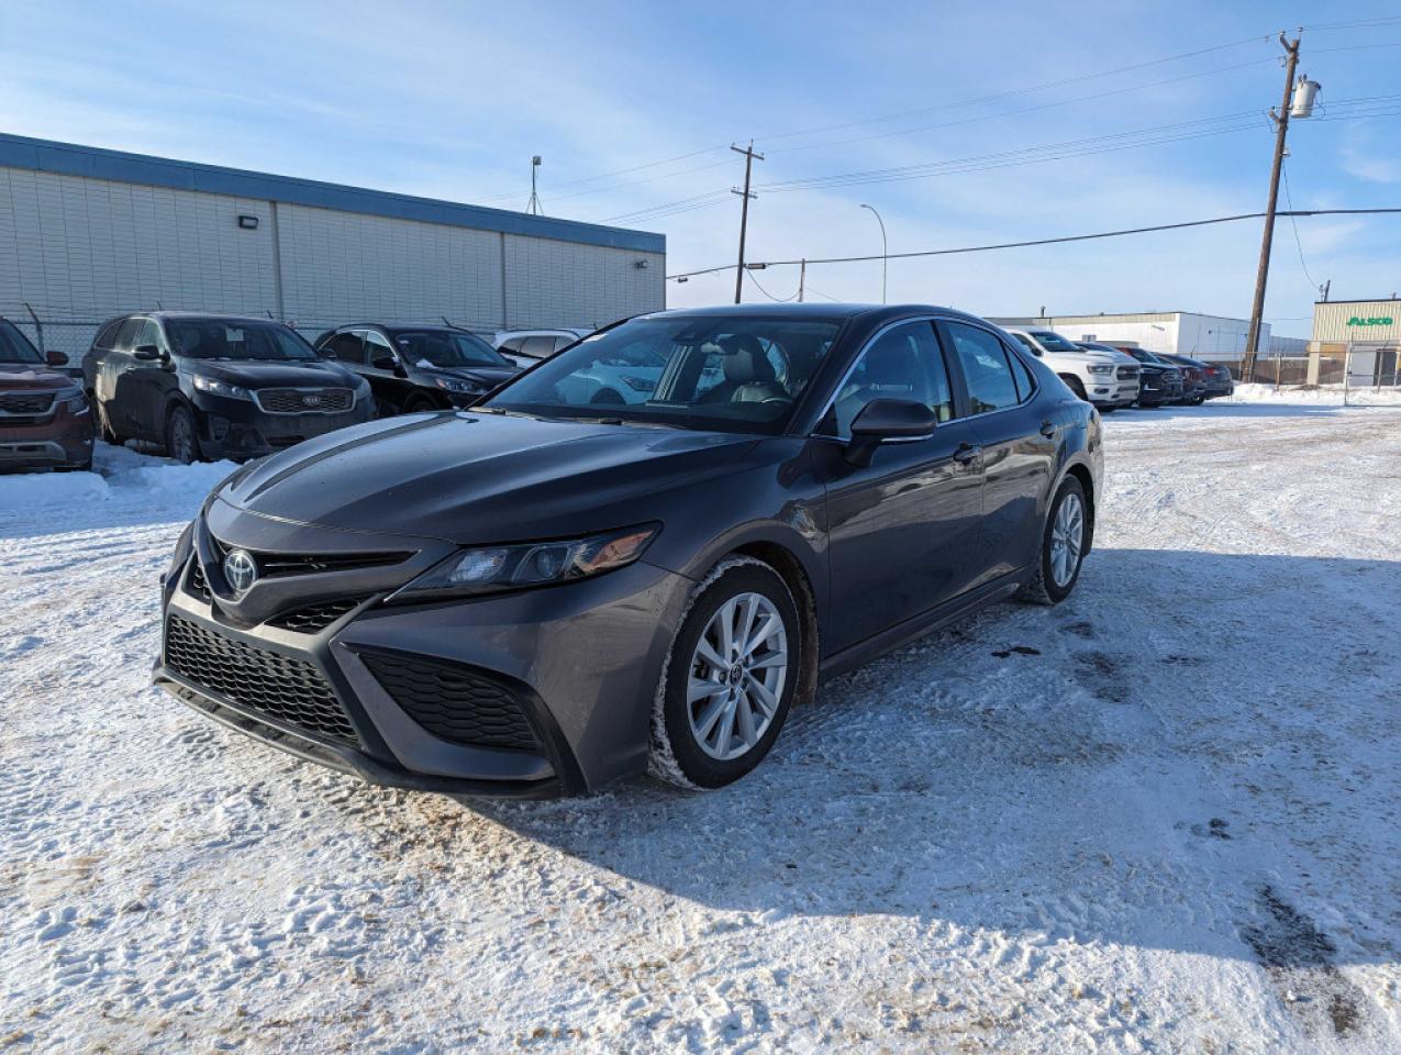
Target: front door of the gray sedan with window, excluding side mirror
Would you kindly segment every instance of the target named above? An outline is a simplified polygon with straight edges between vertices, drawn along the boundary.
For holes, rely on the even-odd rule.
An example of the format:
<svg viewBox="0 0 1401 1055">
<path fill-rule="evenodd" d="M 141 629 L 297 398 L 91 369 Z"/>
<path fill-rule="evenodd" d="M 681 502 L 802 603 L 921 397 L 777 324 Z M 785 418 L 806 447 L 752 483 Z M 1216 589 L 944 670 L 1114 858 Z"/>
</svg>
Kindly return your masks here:
<svg viewBox="0 0 1401 1055">
<path fill-rule="evenodd" d="M 818 425 L 832 651 L 957 597 L 976 577 L 982 455 L 957 416 L 951 378 L 932 321 L 895 324 L 860 353 Z M 869 465 L 852 465 L 850 423 L 878 398 L 925 402 L 939 425 L 927 437 L 883 443 Z"/>
</svg>

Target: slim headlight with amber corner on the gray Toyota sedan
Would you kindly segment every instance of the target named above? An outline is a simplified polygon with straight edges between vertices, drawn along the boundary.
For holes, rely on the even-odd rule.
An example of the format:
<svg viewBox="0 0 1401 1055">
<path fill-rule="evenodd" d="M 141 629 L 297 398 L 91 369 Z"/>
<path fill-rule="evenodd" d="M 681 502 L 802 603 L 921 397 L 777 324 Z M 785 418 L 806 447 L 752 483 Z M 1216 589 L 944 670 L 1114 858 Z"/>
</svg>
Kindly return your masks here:
<svg viewBox="0 0 1401 1055">
<path fill-rule="evenodd" d="M 607 531 L 565 542 L 476 546 L 453 553 L 389 601 L 492 594 L 532 586 L 569 583 L 630 565 L 661 531 L 660 524 Z"/>
</svg>

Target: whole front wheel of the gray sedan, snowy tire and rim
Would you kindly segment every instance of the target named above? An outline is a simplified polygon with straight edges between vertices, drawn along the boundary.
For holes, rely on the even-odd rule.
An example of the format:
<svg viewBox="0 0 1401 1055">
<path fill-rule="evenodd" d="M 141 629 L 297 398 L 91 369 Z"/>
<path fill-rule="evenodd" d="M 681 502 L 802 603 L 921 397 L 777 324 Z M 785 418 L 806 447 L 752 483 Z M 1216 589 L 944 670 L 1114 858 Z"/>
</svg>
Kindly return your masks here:
<svg viewBox="0 0 1401 1055">
<path fill-rule="evenodd" d="M 754 640 L 773 621 L 778 625 L 751 646 L 747 660 L 733 649 L 724 651 L 724 625 L 731 630 L 748 625 Z M 653 706 L 647 771 L 664 783 L 698 790 L 723 787 L 762 762 L 801 681 L 801 633 L 793 593 L 769 565 L 754 558 L 716 565 L 692 593 L 671 642 Z M 716 691 L 689 701 L 692 682 Z"/>
</svg>

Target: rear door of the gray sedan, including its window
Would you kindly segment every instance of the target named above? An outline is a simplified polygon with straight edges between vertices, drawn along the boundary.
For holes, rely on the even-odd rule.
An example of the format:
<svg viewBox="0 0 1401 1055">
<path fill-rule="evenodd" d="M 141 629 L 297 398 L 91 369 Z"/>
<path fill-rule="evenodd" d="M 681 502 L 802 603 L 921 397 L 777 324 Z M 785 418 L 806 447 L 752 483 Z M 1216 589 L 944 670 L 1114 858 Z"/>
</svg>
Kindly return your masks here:
<svg viewBox="0 0 1401 1055">
<path fill-rule="evenodd" d="M 993 331 L 941 319 L 944 343 L 968 394 L 968 422 L 982 446 L 981 586 L 1035 559 L 1061 423 L 1038 409 L 1035 378 Z"/>
</svg>

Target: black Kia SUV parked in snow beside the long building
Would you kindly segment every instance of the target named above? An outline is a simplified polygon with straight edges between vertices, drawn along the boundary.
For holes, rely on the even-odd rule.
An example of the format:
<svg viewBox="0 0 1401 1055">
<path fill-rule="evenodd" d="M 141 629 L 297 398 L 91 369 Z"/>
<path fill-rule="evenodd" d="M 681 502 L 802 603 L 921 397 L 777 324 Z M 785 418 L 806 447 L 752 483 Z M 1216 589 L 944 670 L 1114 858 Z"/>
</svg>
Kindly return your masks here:
<svg viewBox="0 0 1401 1055">
<path fill-rule="evenodd" d="M 83 378 L 104 439 L 160 443 L 185 462 L 254 458 L 374 418 L 367 381 L 265 318 L 122 315 L 98 331 Z"/>
</svg>

